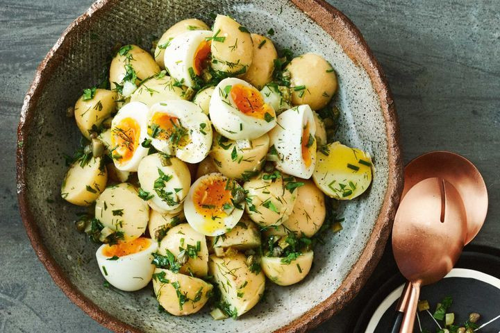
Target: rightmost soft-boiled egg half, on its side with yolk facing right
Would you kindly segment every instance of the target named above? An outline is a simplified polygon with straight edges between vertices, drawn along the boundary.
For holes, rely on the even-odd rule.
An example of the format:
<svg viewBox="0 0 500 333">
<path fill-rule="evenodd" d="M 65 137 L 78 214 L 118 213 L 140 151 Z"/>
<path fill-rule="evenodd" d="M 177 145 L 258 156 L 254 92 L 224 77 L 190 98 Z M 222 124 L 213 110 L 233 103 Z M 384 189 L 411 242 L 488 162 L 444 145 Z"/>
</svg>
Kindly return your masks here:
<svg viewBox="0 0 500 333">
<path fill-rule="evenodd" d="M 269 132 L 270 144 L 278 152 L 276 169 L 310 178 L 316 164 L 316 126 L 309 105 L 299 105 L 278 116 L 278 126 Z"/>
</svg>

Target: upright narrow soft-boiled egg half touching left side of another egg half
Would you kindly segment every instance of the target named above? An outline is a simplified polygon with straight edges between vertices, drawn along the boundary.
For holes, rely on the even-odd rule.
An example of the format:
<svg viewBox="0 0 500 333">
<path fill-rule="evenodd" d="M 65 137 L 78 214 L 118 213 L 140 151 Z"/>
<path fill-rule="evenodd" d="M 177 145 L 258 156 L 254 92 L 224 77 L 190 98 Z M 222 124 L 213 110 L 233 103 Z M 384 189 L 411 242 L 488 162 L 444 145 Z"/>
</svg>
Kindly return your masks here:
<svg viewBox="0 0 500 333">
<path fill-rule="evenodd" d="M 147 156 L 149 149 L 142 146 L 147 139 L 147 112 L 144 103 L 131 102 L 113 118 L 110 151 L 117 169 L 137 171 L 139 162 Z"/>
</svg>

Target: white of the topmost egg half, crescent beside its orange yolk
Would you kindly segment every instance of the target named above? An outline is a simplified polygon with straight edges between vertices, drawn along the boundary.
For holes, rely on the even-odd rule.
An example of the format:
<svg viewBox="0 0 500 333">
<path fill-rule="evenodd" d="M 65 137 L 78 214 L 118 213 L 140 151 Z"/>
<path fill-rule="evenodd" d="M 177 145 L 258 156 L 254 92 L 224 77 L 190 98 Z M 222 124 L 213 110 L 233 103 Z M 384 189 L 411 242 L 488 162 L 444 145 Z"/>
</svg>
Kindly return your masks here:
<svg viewBox="0 0 500 333">
<path fill-rule="evenodd" d="M 187 87 L 194 85 L 189 69 L 194 68 L 194 53 L 199 44 L 208 37 L 212 37 L 212 31 L 194 30 L 181 33 L 170 41 L 163 58 L 170 76 Z"/>
</svg>

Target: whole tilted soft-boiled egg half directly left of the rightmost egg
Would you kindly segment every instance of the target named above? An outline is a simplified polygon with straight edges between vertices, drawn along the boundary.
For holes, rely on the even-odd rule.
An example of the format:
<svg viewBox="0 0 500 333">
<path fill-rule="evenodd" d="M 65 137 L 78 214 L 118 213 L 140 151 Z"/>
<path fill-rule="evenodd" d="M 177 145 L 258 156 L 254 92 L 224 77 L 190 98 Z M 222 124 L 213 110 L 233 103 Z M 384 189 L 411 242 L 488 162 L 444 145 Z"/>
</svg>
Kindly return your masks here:
<svg viewBox="0 0 500 333">
<path fill-rule="evenodd" d="M 276 112 L 250 83 L 239 78 L 222 80 L 210 99 L 210 120 L 228 139 L 256 139 L 276 126 Z"/>
</svg>

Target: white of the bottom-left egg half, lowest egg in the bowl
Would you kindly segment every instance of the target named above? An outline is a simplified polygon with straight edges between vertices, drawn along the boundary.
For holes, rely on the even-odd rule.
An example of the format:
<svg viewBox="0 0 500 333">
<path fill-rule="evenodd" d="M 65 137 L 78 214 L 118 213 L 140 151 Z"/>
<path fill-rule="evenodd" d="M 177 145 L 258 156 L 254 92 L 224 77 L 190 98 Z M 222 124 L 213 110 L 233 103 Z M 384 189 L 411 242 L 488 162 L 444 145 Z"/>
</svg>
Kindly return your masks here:
<svg viewBox="0 0 500 333">
<path fill-rule="evenodd" d="M 125 255 L 116 260 L 103 255 L 106 244 L 99 246 L 96 252 L 97 264 L 103 277 L 113 287 L 123 291 L 136 291 L 147 286 L 153 276 L 155 266 L 151 264 L 158 249 L 158 242 L 149 239 L 149 246 L 138 253 Z"/>
</svg>

